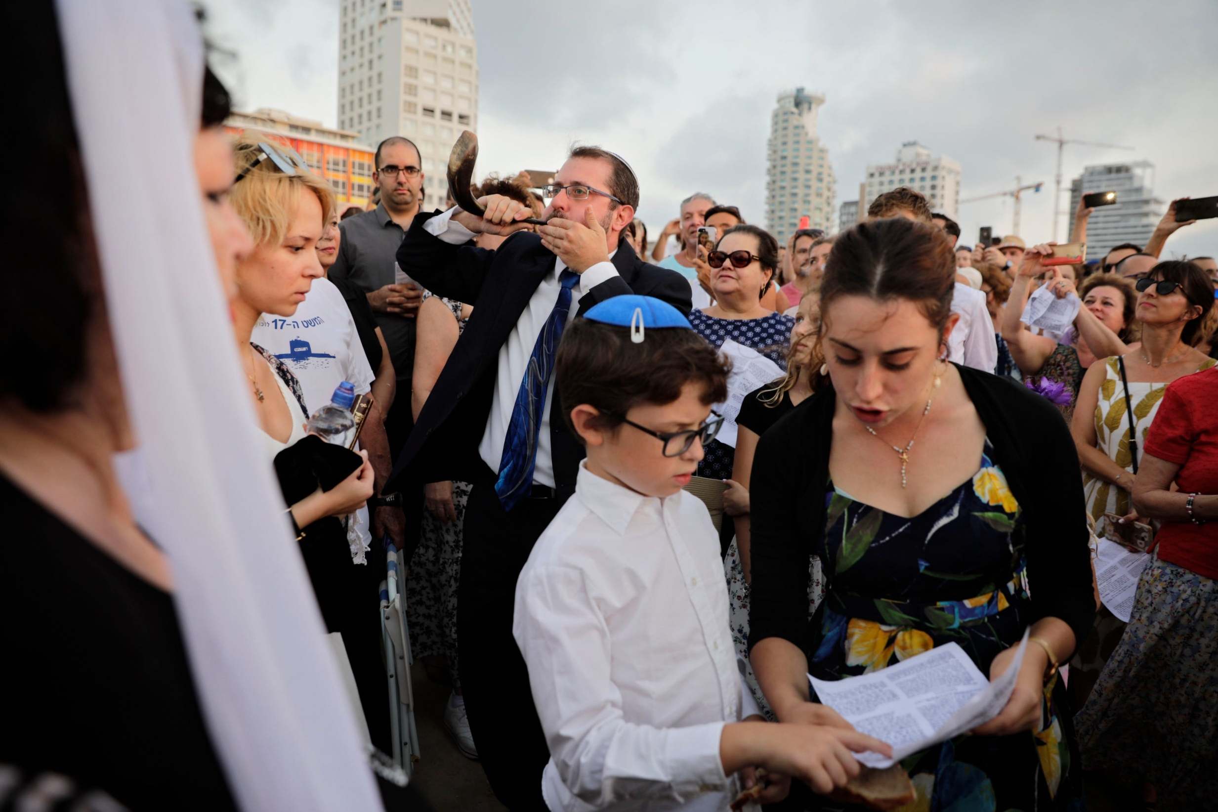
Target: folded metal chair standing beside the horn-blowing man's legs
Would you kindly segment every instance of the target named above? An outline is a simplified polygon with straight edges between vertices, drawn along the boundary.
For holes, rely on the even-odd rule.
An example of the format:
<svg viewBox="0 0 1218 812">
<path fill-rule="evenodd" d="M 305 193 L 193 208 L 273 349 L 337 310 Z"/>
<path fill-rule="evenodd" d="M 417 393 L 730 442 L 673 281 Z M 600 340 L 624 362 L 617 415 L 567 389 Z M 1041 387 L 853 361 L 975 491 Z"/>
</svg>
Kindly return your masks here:
<svg viewBox="0 0 1218 812">
<path fill-rule="evenodd" d="M 380 584 L 381 640 L 389 677 L 390 733 L 393 762 L 409 777 L 419 761 L 419 730 L 414 723 L 414 689 L 410 684 L 410 635 L 406 627 L 403 595 L 398 589 L 400 553 L 387 545 L 389 577 Z"/>
</svg>

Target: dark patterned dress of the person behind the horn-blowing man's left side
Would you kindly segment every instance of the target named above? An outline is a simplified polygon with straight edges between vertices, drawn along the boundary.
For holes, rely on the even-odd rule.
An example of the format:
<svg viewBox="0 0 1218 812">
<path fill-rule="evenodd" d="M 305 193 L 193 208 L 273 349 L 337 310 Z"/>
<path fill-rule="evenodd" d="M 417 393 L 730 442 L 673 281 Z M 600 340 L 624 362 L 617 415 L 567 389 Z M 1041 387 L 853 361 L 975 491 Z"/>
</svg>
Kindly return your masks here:
<svg viewBox="0 0 1218 812">
<path fill-rule="evenodd" d="M 431 298 L 425 291 L 423 298 Z M 465 330 L 462 303 L 441 298 L 457 319 L 457 335 Z M 406 620 L 410 629 L 410 654 L 415 657 L 442 656 L 448 661 L 453 687 L 460 688 L 457 670 L 457 583 L 460 578 L 462 528 L 470 483 L 453 482 L 457 521 L 442 523 L 423 511 L 419 545 L 407 566 Z"/>
</svg>

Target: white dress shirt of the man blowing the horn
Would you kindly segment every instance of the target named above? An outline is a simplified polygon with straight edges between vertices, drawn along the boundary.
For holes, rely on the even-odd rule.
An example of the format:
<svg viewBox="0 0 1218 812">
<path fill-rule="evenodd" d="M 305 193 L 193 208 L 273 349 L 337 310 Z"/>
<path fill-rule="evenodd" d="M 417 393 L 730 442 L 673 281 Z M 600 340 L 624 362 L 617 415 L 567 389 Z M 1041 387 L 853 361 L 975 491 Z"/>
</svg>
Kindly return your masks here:
<svg viewBox="0 0 1218 812">
<path fill-rule="evenodd" d="M 456 207 L 443 214 L 432 217 L 423 228 L 429 234 L 434 234 L 445 242 L 463 245 L 474 239 L 474 233 L 452 219 Z M 614 251 L 609 254 L 611 259 Z M 477 447 L 477 453 L 482 461 L 495 471 L 499 472 L 499 461 L 503 459 L 503 446 L 508 439 L 508 426 L 512 424 L 512 409 L 516 404 L 516 393 L 520 383 L 525 380 L 525 369 L 529 366 L 529 358 L 532 357 L 533 345 L 537 336 L 546 325 L 558 301 L 558 292 L 561 285 L 558 275 L 566 269 L 561 259 L 554 257 L 554 270 L 546 274 L 533 295 L 529 298 L 529 307 L 525 308 L 516 326 L 512 329 L 508 340 L 499 347 L 498 374 L 495 379 L 495 396 L 491 401 L 491 414 L 486 421 L 486 430 L 482 432 L 482 442 Z M 566 323 L 575 320 L 575 313 L 580 309 L 580 299 L 600 282 L 618 275 L 618 269 L 611 262 L 598 262 L 582 274 L 580 284 L 571 289 L 571 308 L 566 312 Z M 541 431 L 537 436 L 537 461 L 533 467 L 533 482 L 554 487 L 554 463 L 549 448 L 549 409 L 554 403 L 554 375 L 553 370 L 549 382 L 546 385 L 546 408 L 541 413 Z"/>
</svg>

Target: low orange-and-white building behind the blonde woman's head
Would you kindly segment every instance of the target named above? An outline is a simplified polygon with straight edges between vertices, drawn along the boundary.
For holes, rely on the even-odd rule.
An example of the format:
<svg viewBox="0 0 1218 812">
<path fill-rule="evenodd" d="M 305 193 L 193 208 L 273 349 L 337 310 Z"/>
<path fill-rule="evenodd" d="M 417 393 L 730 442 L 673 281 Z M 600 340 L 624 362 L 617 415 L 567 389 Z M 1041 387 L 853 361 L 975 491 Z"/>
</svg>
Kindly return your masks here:
<svg viewBox="0 0 1218 812">
<path fill-rule="evenodd" d="M 339 211 L 363 207 L 373 194 L 373 150 L 359 142 L 357 133 L 323 127 L 322 122 L 300 118 L 281 110 L 259 107 L 252 113 L 233 113 L 224 121 L 229 133 L 269 133 L 300 152 L 337 195 Z"/>
</svg>

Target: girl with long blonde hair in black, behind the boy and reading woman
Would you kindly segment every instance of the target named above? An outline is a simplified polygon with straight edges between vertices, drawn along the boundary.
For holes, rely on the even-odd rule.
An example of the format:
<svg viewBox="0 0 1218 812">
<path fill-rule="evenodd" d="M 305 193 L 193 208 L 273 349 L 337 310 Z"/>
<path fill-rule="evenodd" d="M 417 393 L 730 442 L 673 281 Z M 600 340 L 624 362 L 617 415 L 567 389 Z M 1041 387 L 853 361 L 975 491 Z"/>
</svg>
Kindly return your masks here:
<svg viewBox="0 0 1218 812">
<path fill-rule="evenodd" d="M 761 435 L 797 405 L 812 394 L 820 366 L 823 363 L 816 347 L 816 330 L 820 323 L 820 296 L 805 295 L 795 310 L 795 326 L 790 330 L 790 349 L 787 354 L 787 375 L 750 392 L 741 404 L 736 418 L 736 457 L 732 461 L 732 478 L 727 480 L 723 493 L 723 510 L 736 523 L 736 538 L 727 548 L 723 570 L 727 573 L 727 592 L 731 600 L 732 640 L 736 651 L 748 663 L 749 639 L 749 584 L 752 583 L 749 560 L 749 480 L 753 453 Z M 794 509 L 794 506 L 792 506 Z M 820 560 L 810 564 L 811 586 L 808 590 L 808 614 L 815 611 L 821 600 Z M 765 696 L 753 678 L 752 668 L 745 673 L 749 688 L 762 709 L 767 709 Z"/>
</svg>

